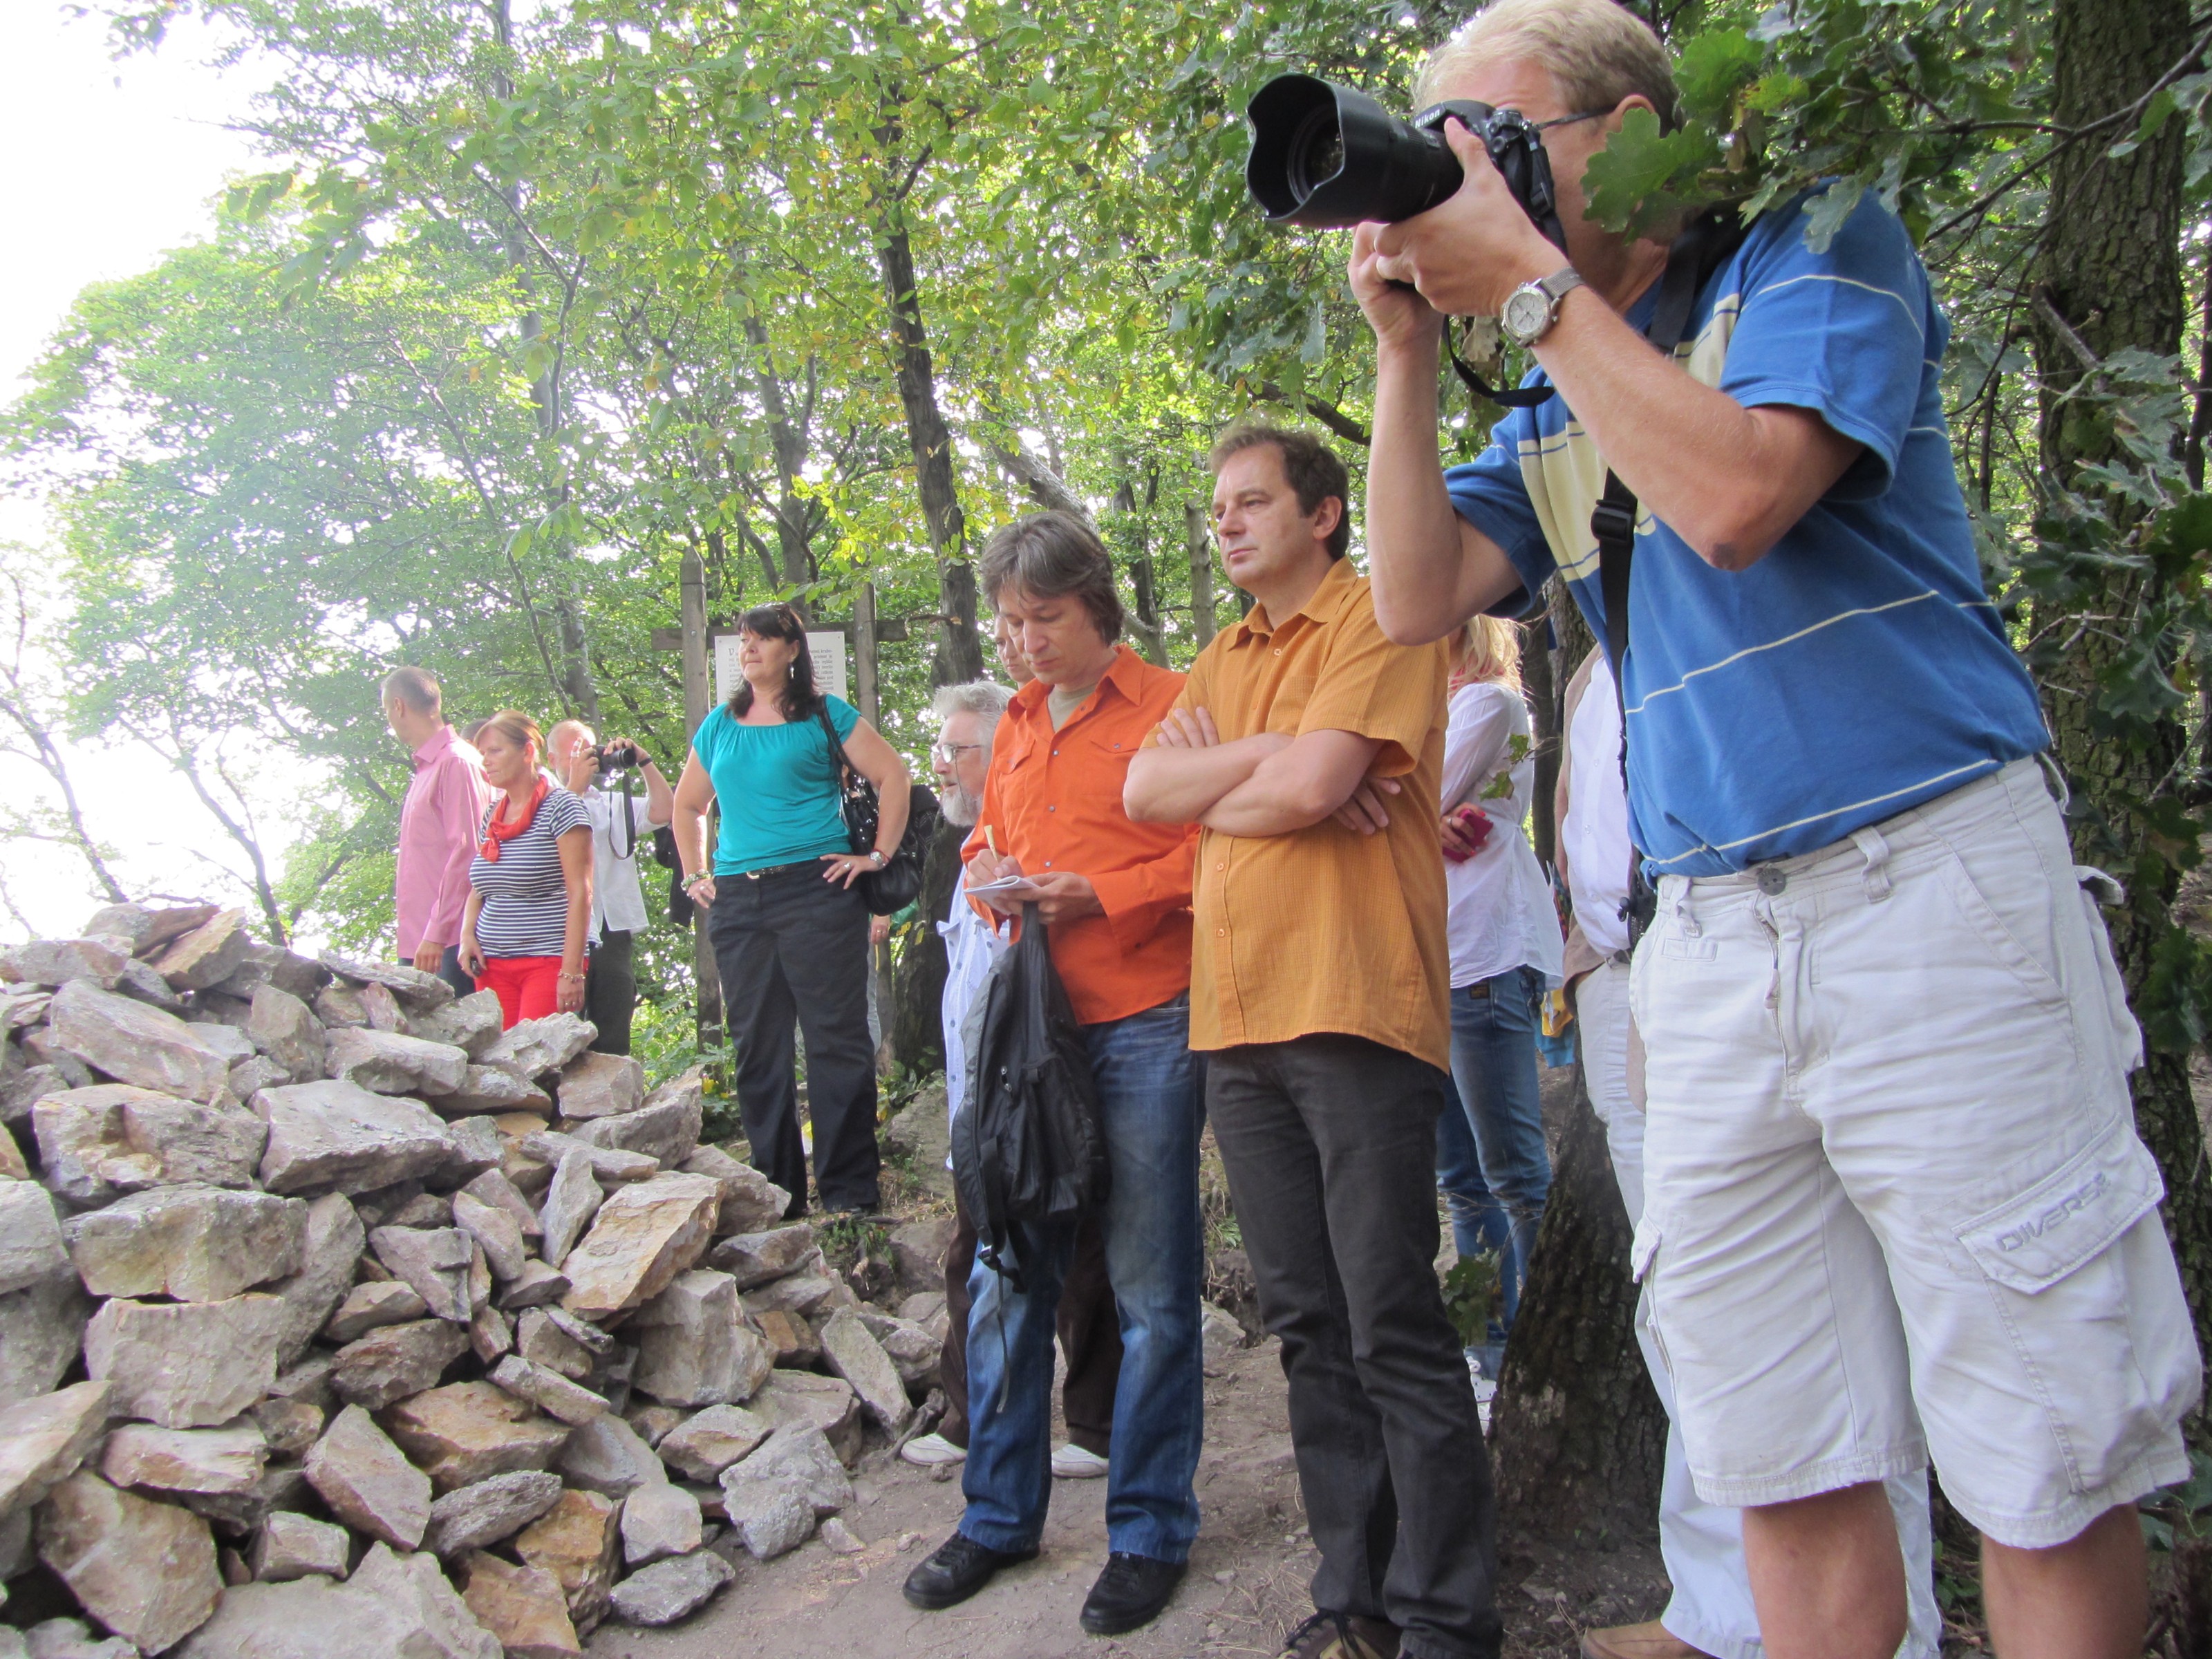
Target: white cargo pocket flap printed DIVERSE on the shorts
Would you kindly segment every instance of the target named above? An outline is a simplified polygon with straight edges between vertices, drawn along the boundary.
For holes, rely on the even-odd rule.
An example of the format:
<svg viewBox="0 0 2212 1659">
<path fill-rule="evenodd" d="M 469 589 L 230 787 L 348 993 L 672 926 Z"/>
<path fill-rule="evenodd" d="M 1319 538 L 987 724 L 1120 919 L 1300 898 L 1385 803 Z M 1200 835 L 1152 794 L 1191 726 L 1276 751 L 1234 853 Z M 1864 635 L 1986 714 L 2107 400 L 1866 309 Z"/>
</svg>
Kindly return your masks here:
<svg viewBox="0 0 2212 1659">
<path fill-rule="evenodd" d="M 2006 1290 L 2039 1296 L 2093 1261 L 2166 1197 L 2157 1159 L 2126 1121 L 2015 1199 L 1955 1223 L 1958 1241 Z M 1637 1248 L 1644 1239 L 1637 1234 Z"/>
</svg>

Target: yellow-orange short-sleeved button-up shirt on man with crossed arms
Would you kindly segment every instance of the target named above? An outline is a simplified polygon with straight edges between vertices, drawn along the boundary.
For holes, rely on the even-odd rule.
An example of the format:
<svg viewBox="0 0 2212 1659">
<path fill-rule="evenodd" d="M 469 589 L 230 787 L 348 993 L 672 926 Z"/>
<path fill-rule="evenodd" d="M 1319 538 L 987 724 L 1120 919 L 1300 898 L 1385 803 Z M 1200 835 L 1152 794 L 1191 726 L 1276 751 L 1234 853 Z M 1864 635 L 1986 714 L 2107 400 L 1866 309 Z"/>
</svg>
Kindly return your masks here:
<svg viewBox="0 0 2212 1659">
<path fill-rule="evenodd" d="M 1451 1066 L 1451 951 L 1436 792 L 1451 648 L 1394 646 L 1367 577 L 1338 560 L 1281 624 L 1263 606 L 1199 655 L 1181 708 L 1221 741 L 1338 730 L 1383 743 L 1400 781 L 1376 836 L 1334 818 L 1287 836 L 1199 836 L 1190 1046 L 1290 1042 L 1318 1031 Z"/>
</svg>

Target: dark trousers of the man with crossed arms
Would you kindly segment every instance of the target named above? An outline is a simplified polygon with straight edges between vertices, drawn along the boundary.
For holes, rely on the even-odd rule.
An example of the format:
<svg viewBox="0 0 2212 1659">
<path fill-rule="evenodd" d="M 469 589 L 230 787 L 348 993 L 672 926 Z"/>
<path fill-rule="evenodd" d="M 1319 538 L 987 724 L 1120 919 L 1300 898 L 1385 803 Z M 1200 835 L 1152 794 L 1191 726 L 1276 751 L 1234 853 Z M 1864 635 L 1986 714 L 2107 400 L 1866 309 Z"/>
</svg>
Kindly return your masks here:
<svg viewBox="0 0 2212 1659">
<path fill-rule="evenodd" d="M 1321 1551 L 1314 1606 L 1389 1619 L 1418 1659 L 1491 1659 L 1498 1520 L 1436 1283 L 1444 1073 L 1365 1037 L 1208 1055 L 1206 1110 Z"/>
</svg>

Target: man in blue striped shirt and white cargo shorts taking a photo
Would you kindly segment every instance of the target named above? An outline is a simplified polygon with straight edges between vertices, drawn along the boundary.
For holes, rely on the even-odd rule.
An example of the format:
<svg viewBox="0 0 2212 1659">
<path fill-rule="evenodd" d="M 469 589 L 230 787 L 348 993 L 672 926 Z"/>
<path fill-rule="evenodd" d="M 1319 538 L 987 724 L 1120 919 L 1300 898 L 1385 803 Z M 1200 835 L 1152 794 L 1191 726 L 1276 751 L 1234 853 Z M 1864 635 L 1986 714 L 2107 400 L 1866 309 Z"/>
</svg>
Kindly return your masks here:
<svg viewBox="0 0 2212 1659">
<path fill-rule="evenodd" d="M 1933 1458 L 1984 1535 L 1997 1652 L 2139 1652 L 2135 1500 L 2188 1473 L 2199 1356 L 2132 1124 L 2141 1042 L 1982 591 L 1927 272 L 1871 195 L 1818 250 L 1820 190 L 1701 265 L 1683 239 L 1674 281 L 1666 239 L 1586 219 L 1624 117 L 1674 117 L 1666 51 L 1610 0 L 1502 0 L 1420 91 L 1535 124 L 1562 237 L 1447 122 L 1460 188 L 1354 239 L 1376 615 L 1436 639 L 1557 571 L 1604 639 L 1626 599 L 1657 878 L 1635 1265 L 1697 1489 L 1743 1506 L 1765 1648 L 1896 1652 L 1882 1480 Z M 1557 394 L 1449 473 L 1447 316 L 1500 316 Z"/>
</svg>

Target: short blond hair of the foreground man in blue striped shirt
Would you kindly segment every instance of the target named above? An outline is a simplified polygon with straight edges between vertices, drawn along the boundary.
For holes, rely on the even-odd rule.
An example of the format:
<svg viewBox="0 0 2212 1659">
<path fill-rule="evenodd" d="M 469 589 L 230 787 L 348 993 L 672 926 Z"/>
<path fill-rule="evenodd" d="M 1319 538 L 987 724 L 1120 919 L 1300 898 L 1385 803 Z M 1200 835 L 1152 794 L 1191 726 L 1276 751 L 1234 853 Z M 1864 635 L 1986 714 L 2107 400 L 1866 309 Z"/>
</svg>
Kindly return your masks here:
<svg viewBox="0 0 2212 1659">
<path fill-rule="evenodd" d="M 1613 0 L 1495 0 L 1462 22 L 1429 53 L 1413 80 L 1413 104 L 1427 108 L 1455 71 L 1504 58 L 1542 64 L 1566 113 L 1613 111 L 1644 93 L 1661 131 L 1674 131 L 1674 66 L 1650 24 Z"/>
</svg>

